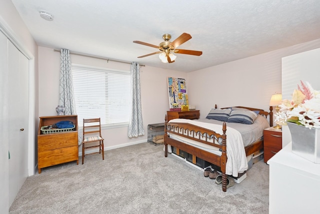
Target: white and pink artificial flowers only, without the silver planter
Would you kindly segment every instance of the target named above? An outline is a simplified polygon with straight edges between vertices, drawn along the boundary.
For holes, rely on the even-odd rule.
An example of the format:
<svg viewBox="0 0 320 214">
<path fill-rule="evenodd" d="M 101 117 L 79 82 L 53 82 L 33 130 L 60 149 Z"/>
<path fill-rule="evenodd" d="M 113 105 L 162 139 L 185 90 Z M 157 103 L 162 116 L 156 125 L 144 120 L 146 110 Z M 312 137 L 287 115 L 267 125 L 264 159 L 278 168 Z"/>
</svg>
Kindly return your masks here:
<svg viewBox="0 0 320 214">
<path fill-rule="evenodd" d="M 286 122 L 296 123 L 306 128 L 320 128 L 320 91 L 311 85 L 300 81 L 301 86 L 294 89 L 292 100 L 282 100 L 279 112 L 275 114 L 275 122 L 286 125 Z"/>
</svg>

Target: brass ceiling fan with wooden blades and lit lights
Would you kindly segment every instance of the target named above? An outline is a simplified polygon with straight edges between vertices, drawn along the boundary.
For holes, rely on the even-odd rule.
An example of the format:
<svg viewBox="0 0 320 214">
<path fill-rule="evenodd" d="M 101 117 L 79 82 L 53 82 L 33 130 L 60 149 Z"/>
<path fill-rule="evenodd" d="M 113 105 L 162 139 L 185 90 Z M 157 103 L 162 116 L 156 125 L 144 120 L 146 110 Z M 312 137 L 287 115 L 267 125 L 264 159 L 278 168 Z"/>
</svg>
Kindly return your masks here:
<svg viewBox="0 0 320 214">
<path fill-rule="evenodd" d="M 184 49 L 176 49 L 178 46 L 180 46 L 181 44 L 185 43 L 186 41 L 188 41 L 189 39 L 192 38 L 187 33 L 181 34 L 173 42 L 169 41 L 171 39 L 171 35 L 170 34 L 163 34 L 162 38 L 163 38 L 164 42 L 161 42 L 158 46 L 151 45 L 151 44 L 144 43 L 144 42 L 140 42 L 140 41 L 133 41 L 133 43 L 136 43 L 136 44 L 145 45 L 145 46 L 149 46 L 149 47 L 152 47 L 152 48 L 159 49 L 159 51 L 157 51 L 157 52 L 154 52 L 154 53 L 151 53 L 151 54 L 147 54 L 147 55 L 143 55 L 143 56 L 139 56 L 138 58 L 148 57 L 148 56 L 151 56 L 151 55 L 154 55 L 154 54 L 160 54 L 159 58 L 163 63 L 173 63 L 175 58 L 176 58 L 176 56 L 173 55 L 173 53 L 176 53 L 176 54 L 188 54 L 188 55 L 194 55 L 194 56 L 200 56 L 202 54 L 202 51 L 191 51 L 191 50 L 184 50 Z"/>
</svg>

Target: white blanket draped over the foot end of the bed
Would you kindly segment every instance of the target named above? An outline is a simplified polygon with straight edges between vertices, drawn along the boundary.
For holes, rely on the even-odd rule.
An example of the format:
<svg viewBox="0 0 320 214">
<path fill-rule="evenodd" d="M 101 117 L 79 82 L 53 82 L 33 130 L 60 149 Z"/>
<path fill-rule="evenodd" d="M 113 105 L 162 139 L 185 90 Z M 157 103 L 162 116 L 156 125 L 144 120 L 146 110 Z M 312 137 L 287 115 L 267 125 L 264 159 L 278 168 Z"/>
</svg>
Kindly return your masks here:
<svg viewBox="0 0 320 214">
<path fill-rule="evenodd" d="M 189 123 L 222 134 L 222 126 L 217 124 L 188 119 L 172 119 L 169 123 Z M 225 173 L 237 177 L 238 173 L 243 172 L 248 168 L 242 137 L 240 132 L 231 127 L 226 127 L 225 134 L 227 155 Z"/>
</svg>

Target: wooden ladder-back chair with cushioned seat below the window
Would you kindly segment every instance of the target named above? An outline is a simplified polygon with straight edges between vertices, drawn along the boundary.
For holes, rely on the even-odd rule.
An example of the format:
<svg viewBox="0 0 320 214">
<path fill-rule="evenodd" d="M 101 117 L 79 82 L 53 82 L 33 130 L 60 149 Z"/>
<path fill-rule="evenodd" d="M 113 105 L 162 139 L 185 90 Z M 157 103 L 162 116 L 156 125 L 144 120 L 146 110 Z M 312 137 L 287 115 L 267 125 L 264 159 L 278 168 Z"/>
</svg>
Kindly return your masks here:
<svg viewBox="0 0 320 214">
<path fill-rule="evenodd" d="M 83 137 L 82 137 L 82 164 L 84 160 L 84 150 L 99 147 L 99 151 L 88 154 L 102 153 L 104 160 L 103 138 L 101 136 L 100 118 L 83 119 Z M 88 146 L 85 146 L 88 144 Z M 92 145 L 93 144 L 93 145 Z"/>
</svg>

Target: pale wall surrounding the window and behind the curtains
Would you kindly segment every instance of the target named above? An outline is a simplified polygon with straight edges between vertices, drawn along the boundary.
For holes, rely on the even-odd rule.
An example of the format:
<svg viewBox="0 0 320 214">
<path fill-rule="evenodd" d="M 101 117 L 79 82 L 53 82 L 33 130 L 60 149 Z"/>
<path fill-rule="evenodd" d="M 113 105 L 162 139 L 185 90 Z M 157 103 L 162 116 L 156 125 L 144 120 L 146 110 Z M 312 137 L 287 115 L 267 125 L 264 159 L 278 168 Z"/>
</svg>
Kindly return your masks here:
<svg viewBox="0 0 320 214">
<path fill-rule="evenodd" d="M 72 51 L 72 50 L 70 50 Z M 55 107 L 59 100 L 59 73 L 60 73 L 60 53 L 53 49 L 39 47 L 39 116 L 56 115 Z M 71 63 L 87 66 L 110 68 L 118 70 L 130 70 L 130 64 L 117 63 L 106 60 L 94 59 L 71 55 Z M 105 149 L 125 146 L 137 142 L 146 142 L 147 125 L 164 122 L 164 115 L 169 108 L 167 92 L 167 76 L 186 78 L 183 72 L 164 70 L 154 67 L 141 67 L 141 100 L 142 118 L 144 126 L 144 136 L 127 137 L 127 127 L 103 129 Z M 189 98 L 192 100 L 192 97 Z M 37 119 L 37 124 L 39 120 Z"/>
</svg>

